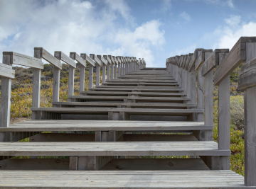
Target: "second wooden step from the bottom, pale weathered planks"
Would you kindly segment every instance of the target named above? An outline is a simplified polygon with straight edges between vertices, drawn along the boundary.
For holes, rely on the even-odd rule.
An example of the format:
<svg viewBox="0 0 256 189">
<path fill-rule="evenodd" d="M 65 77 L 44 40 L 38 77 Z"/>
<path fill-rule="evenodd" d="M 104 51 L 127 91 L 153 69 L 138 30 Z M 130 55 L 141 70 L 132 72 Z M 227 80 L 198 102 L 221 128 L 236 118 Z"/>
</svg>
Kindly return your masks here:
<svg viewBox="0 0 256 189">
<path fill-rule="evenodd" d="M 0 142 L 0 149 L 0 156 L 230 156 L 213 141 Z"/>
</svg>

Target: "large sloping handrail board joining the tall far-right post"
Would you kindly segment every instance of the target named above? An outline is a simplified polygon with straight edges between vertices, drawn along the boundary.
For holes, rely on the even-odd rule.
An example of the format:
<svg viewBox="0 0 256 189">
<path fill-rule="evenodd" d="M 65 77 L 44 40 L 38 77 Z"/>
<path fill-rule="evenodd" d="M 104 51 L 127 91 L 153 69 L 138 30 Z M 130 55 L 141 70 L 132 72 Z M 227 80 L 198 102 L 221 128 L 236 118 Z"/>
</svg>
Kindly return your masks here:
<svg viewBox="0 0 256 189">
<path fill-rule="evenodd" d="M 217 67 L 214 75 L 214 85 L 218 86 L 232 71 L 234 71 L 246 59 L 246 43 L 236 42 L 223 62 Z"/>
</svg>

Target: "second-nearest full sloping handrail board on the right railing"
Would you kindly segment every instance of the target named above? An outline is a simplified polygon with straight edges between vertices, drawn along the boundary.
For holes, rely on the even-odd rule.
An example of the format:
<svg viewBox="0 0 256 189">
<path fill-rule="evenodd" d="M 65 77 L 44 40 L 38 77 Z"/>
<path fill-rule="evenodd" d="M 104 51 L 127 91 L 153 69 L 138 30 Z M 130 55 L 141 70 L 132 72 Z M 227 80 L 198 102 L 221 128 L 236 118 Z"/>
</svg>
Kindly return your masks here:
<svg viewBox="0 0 256 189">
<path fill-rule="evenodd" d="M 224 59 L 228 52 L 228 49 L 215 49 L 203 63 L 202 76 L 206 76 L 206 74 L 217 67 L 219 64 L 220 56 L 223 56 L 221 59 Z"/>
</svg>

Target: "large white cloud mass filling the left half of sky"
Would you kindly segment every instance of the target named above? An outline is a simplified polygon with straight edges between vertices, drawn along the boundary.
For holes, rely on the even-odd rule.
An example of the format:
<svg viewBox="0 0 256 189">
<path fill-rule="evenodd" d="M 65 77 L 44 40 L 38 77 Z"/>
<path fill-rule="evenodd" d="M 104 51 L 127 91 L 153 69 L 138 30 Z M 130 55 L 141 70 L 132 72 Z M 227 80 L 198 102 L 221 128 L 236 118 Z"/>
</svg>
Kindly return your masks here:
<svg viewBox="0 0 256 189">
<path fill-rule="evenodd" d="M 103 4 L 102 4 L 103 2 Z M 153 61 L 151 47 L 164 44 L 159 21 L 137 28 L 126 1 L 0 1 L 0 52 L 33 56 L 33 47 L 143 57 Z M 102 7 L 103 5 L 103 7 Z M 123 24 L 127 23 L 127 24 Z M 120 46 L 120 47 L 119 47 Z"/>
</svg>

